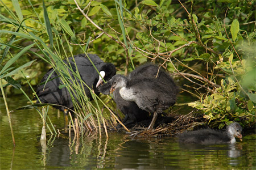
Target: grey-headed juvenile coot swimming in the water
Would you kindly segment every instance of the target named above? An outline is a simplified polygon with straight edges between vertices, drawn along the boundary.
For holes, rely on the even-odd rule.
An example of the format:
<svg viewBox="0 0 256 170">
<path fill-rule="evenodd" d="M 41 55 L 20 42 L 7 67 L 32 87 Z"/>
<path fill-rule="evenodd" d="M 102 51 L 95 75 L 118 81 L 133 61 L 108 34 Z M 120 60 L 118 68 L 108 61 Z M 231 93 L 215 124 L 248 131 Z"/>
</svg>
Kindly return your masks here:
<svg viewBox="0 0 256 170">
<path fill-rule="evenodd" d="M 235 143 L 235 137 L 242 141 L 242 127 L 234 122 L 226 127 L 225 131 L 213 129 L 200 129 L 188 131 L 179 135 L 180 143 L 198 143 L 203 145 L 214 145 L 221 143 Z"/>
</svg>

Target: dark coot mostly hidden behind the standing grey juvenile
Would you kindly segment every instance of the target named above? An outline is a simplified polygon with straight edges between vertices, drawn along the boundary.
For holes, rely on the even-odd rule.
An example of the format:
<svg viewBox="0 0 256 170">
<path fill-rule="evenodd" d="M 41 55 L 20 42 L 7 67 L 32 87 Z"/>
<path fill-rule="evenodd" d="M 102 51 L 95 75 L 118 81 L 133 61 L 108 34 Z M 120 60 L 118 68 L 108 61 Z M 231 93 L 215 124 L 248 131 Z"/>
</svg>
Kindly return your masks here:
<svg viewBox="0 0 256 170">
<path fill-rule="evenodd" d="M 179 88 L 176 86 L 174 80 L 171 78 L 168 73 L 166 73 L 163 69 L 159 69 L 158 66 L 146 63 L 142 66 L 137 67 L 133 72 L 131 72 L 128 76 L 128 79 L 144 79 L 144 78 L 156 78 L 158 81 L 169 84 L 170 90 L 172 90 L 173 94 L 177 94 L 179 92 Z M 103 84 L 100 87 L 100 91 L 102 94 L 109 95 L 110 82 Z M 113 99 L 117 104 L 117 108 L 121 110 L 121 112 L 125 115 L 122 123 L 124 125 L 134 124 L 135 122 L 146 120 L 149 118 L 148 112 L 140 109 L 138 105 L 134 101 L 127 101 L 122 99 L 119 94 L 120 88 L 117 88 L 113 92 Z"/>
</svg>

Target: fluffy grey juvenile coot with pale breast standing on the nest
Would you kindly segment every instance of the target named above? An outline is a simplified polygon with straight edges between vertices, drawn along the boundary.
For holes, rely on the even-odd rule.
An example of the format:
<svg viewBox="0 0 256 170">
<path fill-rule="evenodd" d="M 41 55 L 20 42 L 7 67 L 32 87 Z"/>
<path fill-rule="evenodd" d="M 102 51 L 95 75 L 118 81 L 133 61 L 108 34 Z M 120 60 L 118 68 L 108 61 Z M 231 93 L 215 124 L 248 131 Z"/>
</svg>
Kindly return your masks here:
<svg viewBox="0 0 256 170">
<path fill-rule="evenodd" d="M 139 108 L 154 113 L 148 129 L 154 126 L 158 113 L 175 104 L 176 93 L 172 91 L 172 86 L 155 78 L 128 79 L 117 74 L 110 80 L 110 84 L 110 93 L 120 88 L 119 94 L 124 100 L 134 101 Z"/>
</svg>

